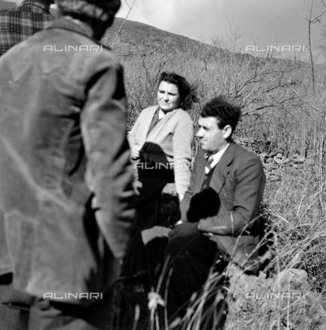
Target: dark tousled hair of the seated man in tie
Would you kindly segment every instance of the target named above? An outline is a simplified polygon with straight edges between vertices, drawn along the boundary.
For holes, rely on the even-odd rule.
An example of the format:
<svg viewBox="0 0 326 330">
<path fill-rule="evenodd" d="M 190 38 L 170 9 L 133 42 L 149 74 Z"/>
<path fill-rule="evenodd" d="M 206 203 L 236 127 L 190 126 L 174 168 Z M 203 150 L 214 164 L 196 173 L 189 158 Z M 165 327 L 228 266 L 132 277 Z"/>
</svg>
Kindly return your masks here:
<svg viewBox="0 0 326 330">
<path fill-rule="evenodd" d="M 202 112 L 201 117 L 215 117 L 217 126 L 223 129 L 226 125 L 230 125 L 232 132 L 235 131 L 239 119 L 241 118 L 241 109 L 237 105 L 230 104 L 224 96 L 218 96 L 208 101 Z"/>
</svg>

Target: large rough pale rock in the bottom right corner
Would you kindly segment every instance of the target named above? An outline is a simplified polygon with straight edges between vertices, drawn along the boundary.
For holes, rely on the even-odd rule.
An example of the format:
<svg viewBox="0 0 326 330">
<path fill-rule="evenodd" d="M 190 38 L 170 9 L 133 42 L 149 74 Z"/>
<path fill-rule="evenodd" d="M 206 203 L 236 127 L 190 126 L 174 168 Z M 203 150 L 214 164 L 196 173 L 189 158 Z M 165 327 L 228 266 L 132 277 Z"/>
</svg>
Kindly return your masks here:
<svg viewBox="0 0 326 330">
<path fill-rule="evenodd" d="M 320 295 L 311 291 L 303 270 L 283 270 L 273 278 L 244 274 L 230 265 L 227 271 L 229 313 L 224 329 L 241 329 L 250 320 L 251 329 L 325 330 L 326 311 Z M 239 327 L 239 328 L 238 328 Z"/>
</svg>

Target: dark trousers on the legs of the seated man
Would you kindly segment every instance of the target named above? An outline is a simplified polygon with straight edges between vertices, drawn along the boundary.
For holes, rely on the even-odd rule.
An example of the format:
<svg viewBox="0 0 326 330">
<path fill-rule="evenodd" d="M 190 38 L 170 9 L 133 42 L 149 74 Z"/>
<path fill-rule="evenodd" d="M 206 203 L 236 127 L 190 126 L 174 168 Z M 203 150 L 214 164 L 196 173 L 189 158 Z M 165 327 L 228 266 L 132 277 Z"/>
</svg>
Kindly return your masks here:
<svg viewBox="0 0 326 330">
<path fill-rule="evenodd" d="M 219 291 L 224 292 L 223 276 L 227 261 L 209 236 L 194 233 L 178 239 L 169 239 L 169 228 L 155 226 L 139 231 L 133 236 L 122 265 L 122 304 L 120 316 L 132 324 L 135 306 L 140 307 L 142 324 L 148 321 L 148 295 L 154 290 L 166 302 L 166 313 L 170 320 L 184 317 L 186 309 L 195 292 L 200 292 L 206 282 L 211 267 L 214 267 L 216 280 L 210 285 L 210 295 L 202 296 L 208 306 Z M 225 293 L 225 292 L 224 292 Z M 217 309 L 226 308 L 222 300 Z M 214 313 L 213 313 L 214 314 Z M 216 313 L 215 313 L 216 314 Z M 214 314 L 214 315 L 215 315 Z M 160 325 L 164 325 L 164 309 L 158 309 Z M 222 325 L 224 319 L 220 320 Z M 145 327 L 143 328 L 145 329 Z M 217 329 L 222 329 L 217 328 Z"/>
</svg>

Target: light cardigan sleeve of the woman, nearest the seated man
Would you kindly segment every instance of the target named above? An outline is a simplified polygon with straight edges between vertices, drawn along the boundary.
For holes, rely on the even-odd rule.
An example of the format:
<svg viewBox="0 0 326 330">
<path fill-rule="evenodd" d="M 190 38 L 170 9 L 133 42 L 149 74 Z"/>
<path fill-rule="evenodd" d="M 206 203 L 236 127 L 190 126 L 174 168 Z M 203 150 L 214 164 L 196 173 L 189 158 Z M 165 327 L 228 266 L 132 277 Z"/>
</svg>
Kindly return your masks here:
<svg viewBox="0 0 326 330">
<path fill-rule="evenodd" d="M 191 178 L 191 159 L 195 129 L 191 118 L 180 120 L 173 133 L 173 161 L 175 186 L 178 195 L 184 195 Z"/>
</svg>

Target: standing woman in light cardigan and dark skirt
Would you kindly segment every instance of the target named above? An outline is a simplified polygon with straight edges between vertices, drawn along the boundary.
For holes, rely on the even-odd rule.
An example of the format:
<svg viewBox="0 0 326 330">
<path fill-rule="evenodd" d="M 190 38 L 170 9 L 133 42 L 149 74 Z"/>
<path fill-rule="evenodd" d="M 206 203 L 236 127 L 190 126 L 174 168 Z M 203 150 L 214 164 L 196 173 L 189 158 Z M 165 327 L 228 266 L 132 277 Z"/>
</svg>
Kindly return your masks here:
<svg viewBox="0 0 326 330">
<path fill-rule="evenodd" d="M 167 183 L 175 181 L 180 201 L 188 188 L 195 130 L 184 110 L 198 101 L 196 90 L 184 77 L 163 72 L 158 81 L 158 105 L 142 110 L 129 131 L 140 182 L 136 230 L 160 224 L 158 208 Z"/>
</svg>

